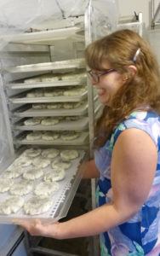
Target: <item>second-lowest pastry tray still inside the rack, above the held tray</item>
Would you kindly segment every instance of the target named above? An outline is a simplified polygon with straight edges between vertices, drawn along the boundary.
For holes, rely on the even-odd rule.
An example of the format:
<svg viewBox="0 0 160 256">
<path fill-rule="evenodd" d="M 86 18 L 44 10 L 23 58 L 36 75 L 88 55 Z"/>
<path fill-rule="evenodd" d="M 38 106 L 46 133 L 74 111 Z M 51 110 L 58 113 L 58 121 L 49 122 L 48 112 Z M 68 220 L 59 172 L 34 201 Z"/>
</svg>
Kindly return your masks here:
<svg viewBox="0 0 160 256">
<path fill-rule="evenodd" d="M 13 125 L 13 129 L 21 131 L 79 131 L 85 130 L 89 126 L 89 118 L 82 117 L 78 120 L 61 120 L 56 125 L 24 125 L 23 121 L 19 121 Z"/>
</svg>

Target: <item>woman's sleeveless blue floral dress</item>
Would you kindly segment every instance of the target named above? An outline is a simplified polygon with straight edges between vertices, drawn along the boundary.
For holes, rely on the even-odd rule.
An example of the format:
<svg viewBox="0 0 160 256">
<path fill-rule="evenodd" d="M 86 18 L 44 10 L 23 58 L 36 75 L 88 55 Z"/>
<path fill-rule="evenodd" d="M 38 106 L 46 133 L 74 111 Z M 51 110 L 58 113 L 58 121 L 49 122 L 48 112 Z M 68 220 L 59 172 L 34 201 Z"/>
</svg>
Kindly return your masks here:
<svg viewBox="0 0 160 256">
<path fill-rule="evenodd" d="M 97 205 L 111 202 L 111 154 L 117 137 L 128 128 L 146 131 L 157 146 L 157 172 L 147 200 L 129 222 L 100 235 L 101 256 L 160 255 L 160 117 L 155 112 L 135 111 L 117 125 L 110 139 L 94 151 L 100 171 Z"/>
</svg>

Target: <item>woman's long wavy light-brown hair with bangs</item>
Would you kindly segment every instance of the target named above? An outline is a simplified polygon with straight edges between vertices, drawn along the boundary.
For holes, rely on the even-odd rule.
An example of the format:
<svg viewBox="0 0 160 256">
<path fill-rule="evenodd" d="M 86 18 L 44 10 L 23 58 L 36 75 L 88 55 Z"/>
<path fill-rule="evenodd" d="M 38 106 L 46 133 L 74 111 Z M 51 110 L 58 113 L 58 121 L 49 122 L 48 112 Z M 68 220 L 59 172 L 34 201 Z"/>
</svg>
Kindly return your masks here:
<svg viewBox="0 0 160 256">
<path fill-rule="evenodd" d="M 140 53 L 134 61 L 137 49 Z M 160 113 L 160 83 L 156 57 L 150 45 L 137 32 L 119 30 L 100 38 L 85 49 L 88 66 L 104 70 L 107 62 L 118 73 L 128 77 L 123 86 L 113 96 L 111 108 L 105 106 L 94 129 L 94 148 L 100 148 L 111 137 L 111 132 L 134 109 L 155 110 Z M 133 75 L 129 65 L 137 69 Z"/>
</svg>

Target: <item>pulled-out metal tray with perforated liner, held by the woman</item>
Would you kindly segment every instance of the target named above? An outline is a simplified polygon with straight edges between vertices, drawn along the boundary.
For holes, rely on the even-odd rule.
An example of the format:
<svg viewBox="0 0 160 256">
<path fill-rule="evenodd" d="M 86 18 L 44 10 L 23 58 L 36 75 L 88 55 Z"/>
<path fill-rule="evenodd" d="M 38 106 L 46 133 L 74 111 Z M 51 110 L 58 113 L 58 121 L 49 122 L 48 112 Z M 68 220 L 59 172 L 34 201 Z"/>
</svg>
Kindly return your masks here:
<svg viewBox="0 0 160 256">
<path fill-rule="evenodd" d="M 79 157 L 75 160 L 71 160 L 71 167 L 66 170 L 66 177 L 65 179 L 59 182 L 60 188 L 58 191 L 54 192 L 52 196 L 53 205 L 49 209 L 48 212 L 44 212 L 43 214 L 38 215 L 28 215 L 23 212 L 23 208 L 16 213 L 12 213 L 9 215 L 0 215 L 0 223 L 1 224 L 11 224 L 13 223 L 14 219 L 23 218 L 27 219 L 28 221 L 34 221 L 35 218 L 41 219 L 43 223 L 52 223 L 58 221 L 60 218 L 66 217 L 66 214 L 71 206 L 71 201 L 76 193 L 78 184 L 81 181 L 83 170 L 77 169 L 80 162 L 86 157 L 86 153 L 83 150 L 79 150 Z M 60 157 L 60 156 L 58 156 Z M 58 158 L 57 157 L 57 158 Z M 38 166 L 37 166 L 38 167 Z M 28 167 L 24 167 L 24 172 L 26 172 Z M 43 168 L 43 172 L 47 172 L 51 166 Z M 1 172 L 3 173 L 3 172 Z M 14 180 L 18 181 L 21 180 L 23 177 L 14 178 Z M 34 182 L 34 188 L 38 183 L 43 181 L 43 177 L 38 178 Z M 33 189 L 34 189 L 33 188 Z M 31 196 L 34 195 L 34 192 L 31 192 L 28 195 L 24 195 L 23 198 L 27 201 Z M 0 200 L 5 199 L 5 197 L 9 196 L 9 192 L 0 193 Z"/>
</svg>

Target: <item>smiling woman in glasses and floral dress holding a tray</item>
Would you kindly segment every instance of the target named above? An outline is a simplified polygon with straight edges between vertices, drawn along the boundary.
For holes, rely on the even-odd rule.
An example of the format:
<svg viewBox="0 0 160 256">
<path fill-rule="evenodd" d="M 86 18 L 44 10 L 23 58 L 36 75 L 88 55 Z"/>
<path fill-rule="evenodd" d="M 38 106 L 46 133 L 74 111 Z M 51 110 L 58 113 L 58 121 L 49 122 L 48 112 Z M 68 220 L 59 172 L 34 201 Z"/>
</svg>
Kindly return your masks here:
<svg viewBox="0 0 160 256">
<path fill-rule="evenodd" d="M 101 255 L 159 255 L 160 102 L 157 61 L 139 34 L 122 30 L 86 49 L 89 75 L 104 110 L 95 125 L 98 206 L 64 223 L 19 223 L 33 236 L 100 234 Z"/>
</svg>

